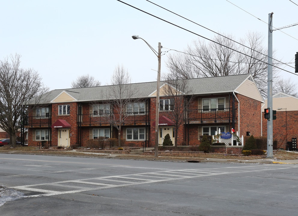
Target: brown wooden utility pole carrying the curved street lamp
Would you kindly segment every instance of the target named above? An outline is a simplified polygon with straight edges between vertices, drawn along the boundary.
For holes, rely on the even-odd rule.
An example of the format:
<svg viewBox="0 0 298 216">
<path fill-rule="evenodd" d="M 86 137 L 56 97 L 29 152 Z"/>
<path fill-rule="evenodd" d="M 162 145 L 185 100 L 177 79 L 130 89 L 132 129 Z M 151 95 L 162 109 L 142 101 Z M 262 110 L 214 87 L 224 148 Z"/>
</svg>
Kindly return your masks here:
<svg viewBox="0 0 298 216">
<path fill-rule="evenodd" d="M 156 113 L 155 113 L 155 151 L 154 156 L 158 157 L 158 117 L 159 117 L 159 90 L 160 90 L 160 62 L 161 44 L 158 43 L 158 70 L 157 70 L 157 89 L 156 89 Z"/>
</svg>

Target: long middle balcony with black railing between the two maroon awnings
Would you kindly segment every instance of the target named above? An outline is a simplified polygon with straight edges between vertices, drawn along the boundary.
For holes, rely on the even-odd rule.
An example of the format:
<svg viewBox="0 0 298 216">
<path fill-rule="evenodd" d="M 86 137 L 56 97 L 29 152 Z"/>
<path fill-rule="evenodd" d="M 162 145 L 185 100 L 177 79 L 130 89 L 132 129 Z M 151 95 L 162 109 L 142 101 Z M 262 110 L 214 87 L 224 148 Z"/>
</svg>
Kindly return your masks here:
<svg viewBox="0 0 298 216">
<path fill-rule="evenodd" d="M 111 122 L 120 122 L 120 117 L 125 125 L 145 125 L 149 124 L 149 113 L 123 113 L 122 116 L 119 113 L 107 114 L 78 114 L 77 122 L 81 126 L 89 125 L 110 125 Z"/>
</svg>

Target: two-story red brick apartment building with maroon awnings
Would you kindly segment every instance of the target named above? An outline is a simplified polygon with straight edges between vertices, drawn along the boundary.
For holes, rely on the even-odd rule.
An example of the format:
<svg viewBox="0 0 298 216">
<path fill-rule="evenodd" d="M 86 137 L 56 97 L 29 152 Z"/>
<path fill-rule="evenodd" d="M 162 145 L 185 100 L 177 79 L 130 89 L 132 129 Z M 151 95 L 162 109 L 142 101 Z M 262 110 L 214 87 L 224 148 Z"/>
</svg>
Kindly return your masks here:
<svg viewBox="0 0 298 216">
<path fill-rule="evenodd" d="M 137 90 L 136 101 L 127 104 L 127 118 L 122 125 L 121 138 L 126 145 L 154 146 L 157 82 L 129 84 Z M 162 94 L 166 82 L 161 82 Z M 263 98 L 250 74 L 189 79 L 193 100 L 178 131 L 174 129 L 173 98 L 160 95 L 159 144 L 166 134 L 180 145 L 199 145 L 201 135 L 229 132 L 232 128 L 239 136 L 261 136 L 261 103 Z M 24 125 L 28 128 L 29 146 L 43 140 L 50 146 L 86 146 L 89 139 L 117 138 L 118 131 L 108 120 L 115 112 L 109 101 L 109 86 L 59 89 L 44 95 L 39 107 L 29 113 Z M 117 114 L 117 113 L 116 113 Z"/>
</svg>

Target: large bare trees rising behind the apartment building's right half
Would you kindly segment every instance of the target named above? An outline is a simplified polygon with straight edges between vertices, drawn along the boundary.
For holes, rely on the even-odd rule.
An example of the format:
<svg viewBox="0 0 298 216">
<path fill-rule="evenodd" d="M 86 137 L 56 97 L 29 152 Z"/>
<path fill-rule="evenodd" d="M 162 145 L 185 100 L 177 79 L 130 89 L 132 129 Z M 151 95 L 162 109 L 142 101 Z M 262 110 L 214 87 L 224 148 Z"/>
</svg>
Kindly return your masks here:
<svg viewBox="0 0 298 216">
<path fill-rule="evenodd" d="M 213 41 L 217 43 L 194 41 L 184 54 L 170 55 L 166 63 L 169 73 L 176 70 L 181 79 L 251 73 L 261 94 L 266 97 L 268 57 L 267 49 L 262 45 L 263 37 L 248 32 L 245 39 L 240 40 L 245 45 L 242 46 L 232 41 L 232 35 L 224 36 L 216 35 Z M 273 70 L 273 75 L 278 76 L 277 70 Z"/>
</svg>

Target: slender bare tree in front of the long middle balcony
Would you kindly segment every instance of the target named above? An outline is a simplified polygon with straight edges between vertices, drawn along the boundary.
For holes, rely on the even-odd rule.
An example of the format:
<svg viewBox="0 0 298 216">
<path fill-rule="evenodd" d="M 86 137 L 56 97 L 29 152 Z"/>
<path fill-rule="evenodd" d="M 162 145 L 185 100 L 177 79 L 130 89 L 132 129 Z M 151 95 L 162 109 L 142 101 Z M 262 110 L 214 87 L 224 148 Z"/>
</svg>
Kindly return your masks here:
<svg viewBox="0 0 298 216">
<path fill-rule="evenodd" d="M 110 98 L 111 111 L 110 122 L 118 130 L 118 146 L 121 147 L 121 127 L 129 115 L 126 115 L 126 106 L 135 102 L 133 96 L 138 91 L 131 85 L 131 78 L 123 65 L 117 65 L 111 77 L 111 86 L 107 98 Z"/>
</svg>

